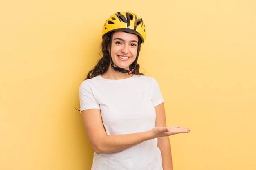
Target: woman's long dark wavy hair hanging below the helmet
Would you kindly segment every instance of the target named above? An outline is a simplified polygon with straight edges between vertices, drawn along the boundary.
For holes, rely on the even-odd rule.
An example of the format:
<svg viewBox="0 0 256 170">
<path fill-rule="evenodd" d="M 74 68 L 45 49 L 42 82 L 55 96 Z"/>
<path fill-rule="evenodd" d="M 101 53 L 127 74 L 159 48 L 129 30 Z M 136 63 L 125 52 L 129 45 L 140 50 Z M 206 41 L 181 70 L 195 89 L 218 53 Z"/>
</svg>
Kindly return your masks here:
<svg viewBox="0 0 256 170">
<path fill-rule="evenodd" d="M 108 45 L 111 42 L 111 37 L 112 37 L 112 33 L 107 33 L 106 35 L 103 36 L 103 40 L 101 42 L 101 53 L 103 56 L 101 56 L 101 59 L 98 61 L 98 63 L 96 64 L 96 66 L 94 66 L 94 68 L 92 70 L 90 70 L 87 74 L 86 79 L 91 79 L 93 77 L 96 77 L 97 75 L 102 75 L 103 73 L 106 73 L 106 71 L 109 68 L 109 64 L 110 64 L 110 56 L 109 56 L 109 52 L 108 52 Z M 139 39 L 139 44 L 141 44 L 141 39 L 138 37 Z M 139 51 L 140 51 L 140 47 L 139 47 Z M 139 52 L 138 51 L 138 52 Z M 135 65 L 134 63 L 132 63 L 130 65 L 130 70 L 132 70 L 132 68 L 134 68 Z M 136 69 L 135 71 L 132 72 L 132 74 L 135 75 L 144 75 L 142 73 L 139 73 L 139 64 L 136 63 Z"/>
</svg>

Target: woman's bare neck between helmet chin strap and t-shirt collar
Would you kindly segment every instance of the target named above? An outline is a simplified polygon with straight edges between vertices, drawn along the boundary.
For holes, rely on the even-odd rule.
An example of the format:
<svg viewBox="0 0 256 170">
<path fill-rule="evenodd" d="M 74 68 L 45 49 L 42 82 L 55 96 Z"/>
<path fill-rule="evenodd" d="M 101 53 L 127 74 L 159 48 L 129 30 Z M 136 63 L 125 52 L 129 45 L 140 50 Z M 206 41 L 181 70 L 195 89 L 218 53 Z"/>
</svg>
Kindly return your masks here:
<svg viewBox="0 0 256 170">
<path fill-rule="evenodd" d="M 127 79 L 132 77 L 132 74 L 128 75 L 127 73 L 122 73 L 119 71 L 115 71 L 113 68 L 111 68 L 111 65 L 109 64 L 108 70 L 106 73 L 101 75 L 104 79 Z"/>
</svg>

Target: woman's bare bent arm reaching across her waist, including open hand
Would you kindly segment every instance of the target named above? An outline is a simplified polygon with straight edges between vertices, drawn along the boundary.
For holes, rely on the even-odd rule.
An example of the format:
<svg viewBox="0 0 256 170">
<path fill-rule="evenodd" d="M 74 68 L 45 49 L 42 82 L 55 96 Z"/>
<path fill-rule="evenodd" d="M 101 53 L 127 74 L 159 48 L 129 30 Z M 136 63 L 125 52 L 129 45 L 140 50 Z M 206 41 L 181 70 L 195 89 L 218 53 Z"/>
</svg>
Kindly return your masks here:
<svg viewBox="0 0 256 170">
<path fill-rule="evenodd" d="M 124 150 L 156 137 L 188 133 L 189 129 L 179 126 L 155 127 L 152 130 L 125 135 L 106 135 L 100 109 L 88 109 L 82 112 L 83 126 L 95 153 L 111 153 Z"/>
</svg>

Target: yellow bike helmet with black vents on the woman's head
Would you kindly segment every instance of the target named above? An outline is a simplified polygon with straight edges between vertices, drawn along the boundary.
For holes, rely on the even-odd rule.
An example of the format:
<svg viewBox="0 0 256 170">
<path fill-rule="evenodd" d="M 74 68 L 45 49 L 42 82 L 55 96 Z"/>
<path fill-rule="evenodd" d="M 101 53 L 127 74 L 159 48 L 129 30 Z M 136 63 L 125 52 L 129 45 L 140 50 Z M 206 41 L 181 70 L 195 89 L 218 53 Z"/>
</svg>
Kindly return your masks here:
<svg viewBox="0 0 256 170">
<path fill-rule="evenodd" d="M 141 43 L 146 39 L 146 26 L 141 17 L 132 12 L 117 12 L 105 21 L 102 37 L 112 31 L 125 31 L 134 33 L 141 38 Z"/>
</svg>

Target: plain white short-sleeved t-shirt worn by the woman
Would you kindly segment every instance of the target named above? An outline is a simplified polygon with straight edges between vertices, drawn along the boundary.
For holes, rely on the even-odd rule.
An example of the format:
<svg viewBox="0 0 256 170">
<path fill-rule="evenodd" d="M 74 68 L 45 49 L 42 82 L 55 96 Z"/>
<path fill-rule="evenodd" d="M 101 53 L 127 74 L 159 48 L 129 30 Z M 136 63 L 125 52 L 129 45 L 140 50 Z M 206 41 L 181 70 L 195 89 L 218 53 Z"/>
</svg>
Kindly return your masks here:
<svg viewBox="0 0 256 170">
<path fill-rule="evenodd" d="M 155 127 L 155 106 L 164 102 L 157 81 L 133 75 L 111 80 L 97 75 L 79 87 L 80 110 L 100 109 L 107 135 L 145 132 Z M 128 149 L 97 154 L 92 170 L 163 170 L 157 138 Z"/>
</svg>

